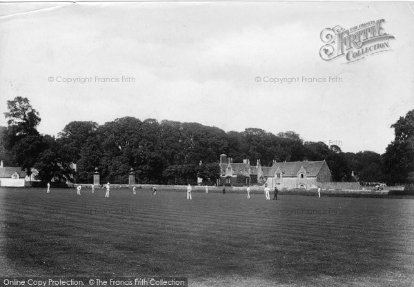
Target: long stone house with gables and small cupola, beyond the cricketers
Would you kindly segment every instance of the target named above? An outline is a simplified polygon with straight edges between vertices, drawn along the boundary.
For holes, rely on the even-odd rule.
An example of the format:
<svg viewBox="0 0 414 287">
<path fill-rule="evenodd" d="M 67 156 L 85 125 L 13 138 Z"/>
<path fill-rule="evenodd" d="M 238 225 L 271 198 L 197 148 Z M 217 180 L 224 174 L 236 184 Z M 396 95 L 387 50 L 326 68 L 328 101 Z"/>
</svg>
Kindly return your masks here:
<svg viewBox="0 0 414 287">
<path fill-rule="evenodd" d="M 326 161 L 273 161 L 272 166 L 250 166 L 250 160 L 233 163 L 231 157 L 220 155 L 220 178 L 217 186 L 264 185 L 274 188 L 317 188 L 331 181 L 331 170 Z"/>
</svg>

